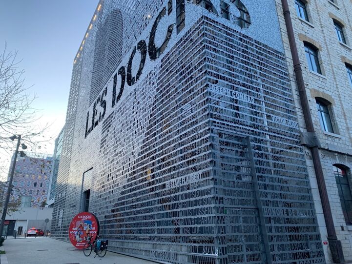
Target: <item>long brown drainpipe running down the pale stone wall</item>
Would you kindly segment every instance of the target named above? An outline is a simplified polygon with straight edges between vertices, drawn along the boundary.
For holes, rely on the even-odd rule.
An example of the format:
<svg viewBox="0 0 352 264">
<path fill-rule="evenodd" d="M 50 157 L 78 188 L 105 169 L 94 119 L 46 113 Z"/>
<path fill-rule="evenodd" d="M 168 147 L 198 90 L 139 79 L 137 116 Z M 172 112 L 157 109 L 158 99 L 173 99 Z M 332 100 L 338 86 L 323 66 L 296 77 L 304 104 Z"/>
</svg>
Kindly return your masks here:
<svg viewBox="0 0 352 264">
<path fill-rule="evenodd" d="M 329 241 L 332 261 L 333 263 L 343 263 L 345 260 L 343 256 L 342 245 L 341 245 L 341 241 L 337 240 L 335 226 L 332 219 L 328 192 L 326 189 L 323 169 L 320 161 L 320 155 L 319 155 L 319 149 L 318 149 L 319 143 L 314 131 L 313 121 L 311 118 L 311 112 L 310 112 L 310 107 L 308 103 L 306 87 L 305 87 L 303 75 L 302 75 L 301 62 L 298 57 L 296 41 L 293 33 L 289 4 L 287 0 L 281 0 L 281 2 L 282 2 L 283 11 L 284 11 L 287 33 L 290 41 L 290 49 L 291 49 L 291 55 L 293 59 L 294 73 L 296 75 L 296 81 L 297 81 L 297 86 L 299 91 L 299 98 L 302 105 L 302 111 L 303 111 L 304 121 L 306 123 L 308 138 L 310 138 L 309 141 L 311 142 L 307 145 L 311 150 L 311 156 L 313 159 L 314 171 L 315 171 L 315 176 L 318 183 L 321 204 L 323 207 L 323 213 L 324 213 L 324 219 L 325 219 L 326 229 L 328 233 L 328 241 Z"/>
</svg>

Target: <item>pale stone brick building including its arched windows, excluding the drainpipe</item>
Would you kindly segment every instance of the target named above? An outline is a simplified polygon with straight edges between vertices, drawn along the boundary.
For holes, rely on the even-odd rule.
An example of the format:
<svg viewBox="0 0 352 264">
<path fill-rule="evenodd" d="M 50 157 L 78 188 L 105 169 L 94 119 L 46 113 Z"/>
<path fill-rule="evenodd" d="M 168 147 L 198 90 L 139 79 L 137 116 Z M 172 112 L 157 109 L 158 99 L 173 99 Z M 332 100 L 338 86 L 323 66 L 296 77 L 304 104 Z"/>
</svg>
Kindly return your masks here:
<svg viewBox="0 0 352 264">
<path fill-rule="evenodd" d="M 311 117 L 337 239 L 352 261 L 352 1 L 289 0 L 293 31 L 303 69 Z M 307 132 L 299 100 L 281 0 L 276 0 L 300 130 Z M 323 242 L 328 234 L 312 156 L 305 148 Z M 323 245 L 327 263 L 331 251 Z"/>
</svg>

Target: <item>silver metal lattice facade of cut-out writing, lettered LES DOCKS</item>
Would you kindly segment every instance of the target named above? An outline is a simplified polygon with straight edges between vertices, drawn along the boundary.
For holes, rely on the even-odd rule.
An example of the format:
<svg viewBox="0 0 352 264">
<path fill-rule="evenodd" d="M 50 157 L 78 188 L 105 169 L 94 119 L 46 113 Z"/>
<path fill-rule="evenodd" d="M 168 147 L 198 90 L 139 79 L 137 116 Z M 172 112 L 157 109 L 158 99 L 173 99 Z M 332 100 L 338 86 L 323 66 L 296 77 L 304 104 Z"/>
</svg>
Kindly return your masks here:
<svg viewBox="0 0 352 264">
<path fill-rule="evenodd" d="M 101 1 L 57 186 L 61 239 L 86 209 L 127 255 L 325 263 L 274 0 Z"/>
</svg>

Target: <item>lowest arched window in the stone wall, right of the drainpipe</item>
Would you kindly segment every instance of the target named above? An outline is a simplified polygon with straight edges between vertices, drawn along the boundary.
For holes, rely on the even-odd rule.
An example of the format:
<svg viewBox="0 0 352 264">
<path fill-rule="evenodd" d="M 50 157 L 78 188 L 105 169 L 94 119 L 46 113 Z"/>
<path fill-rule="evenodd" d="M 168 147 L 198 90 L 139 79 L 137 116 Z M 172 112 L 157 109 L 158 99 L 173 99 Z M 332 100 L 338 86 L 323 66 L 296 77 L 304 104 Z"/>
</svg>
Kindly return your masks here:
<svg viewBox="0 0 352 264">
<path fill-rule="evenodd" d="M 352 194 L 347 177 L 347 168 L 339 164 L 334 164 L 333 167 L 343 215 L 346 224 L 352 225 Z"/>
</svg>

